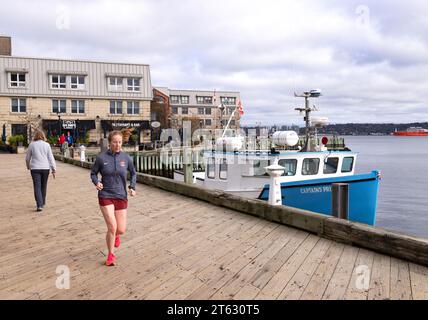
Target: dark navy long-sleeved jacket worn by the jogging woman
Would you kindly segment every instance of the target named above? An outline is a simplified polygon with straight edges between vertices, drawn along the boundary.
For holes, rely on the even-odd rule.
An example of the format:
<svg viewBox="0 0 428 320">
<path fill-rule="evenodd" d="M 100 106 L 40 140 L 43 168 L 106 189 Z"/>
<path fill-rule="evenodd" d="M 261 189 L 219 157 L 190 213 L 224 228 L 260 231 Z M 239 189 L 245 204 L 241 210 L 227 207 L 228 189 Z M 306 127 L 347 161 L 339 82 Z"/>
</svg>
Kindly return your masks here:
<svg viewBox="0 0 428 320">
<path fill-rule="evenodd" d="M 125 152 L 113 154 L 110 150 L 100 153 L 92 166 L 91 180 L 97 185 L 101 182 L 104 188 L 98 191 L 99 198 L 127 199 L 126 177 L 131 174 L 129 187 L 135 190 L 137 174 L 131 157 Z M 98 179 L 101 173 L 101 181 Z"/>
</svg>

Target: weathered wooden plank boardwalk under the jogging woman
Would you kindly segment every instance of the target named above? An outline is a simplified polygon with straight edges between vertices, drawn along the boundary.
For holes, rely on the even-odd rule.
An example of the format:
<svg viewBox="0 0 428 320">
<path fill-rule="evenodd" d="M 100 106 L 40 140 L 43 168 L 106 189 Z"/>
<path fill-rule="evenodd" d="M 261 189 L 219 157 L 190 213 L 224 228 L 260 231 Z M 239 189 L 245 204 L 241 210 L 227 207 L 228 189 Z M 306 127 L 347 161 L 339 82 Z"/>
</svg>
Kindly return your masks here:
<svg viewBox="0 0 428 320">
<path fill-rule="evenodd" d="M 40 214 L 24 157 L 0 163 L 0 299 L 428 299 L 426 267 L 145 185 L 105 267 L 87 169 L 57 162 Z"/>
</svg>

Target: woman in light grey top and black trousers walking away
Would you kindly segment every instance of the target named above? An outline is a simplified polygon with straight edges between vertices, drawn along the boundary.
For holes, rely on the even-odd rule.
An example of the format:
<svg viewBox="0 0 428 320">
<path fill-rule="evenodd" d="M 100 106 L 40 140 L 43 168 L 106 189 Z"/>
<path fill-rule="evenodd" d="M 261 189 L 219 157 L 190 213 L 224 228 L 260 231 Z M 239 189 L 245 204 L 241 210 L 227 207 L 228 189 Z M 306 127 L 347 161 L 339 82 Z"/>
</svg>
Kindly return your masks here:
<svg viewBox="0 0 428 320">
<path fill-rule="evenodd" d="M 46 204 L 46 191 L 48 186 L 49 171 L 55 178 L 56 163 L 45 134 L 37 130 L 33 141 L 28 146 L 25 157 L 27 169 L 31 170 L 33 179 L 34 198 L 36 199 L 36 211 L 42 211 Z"/>
</svg>

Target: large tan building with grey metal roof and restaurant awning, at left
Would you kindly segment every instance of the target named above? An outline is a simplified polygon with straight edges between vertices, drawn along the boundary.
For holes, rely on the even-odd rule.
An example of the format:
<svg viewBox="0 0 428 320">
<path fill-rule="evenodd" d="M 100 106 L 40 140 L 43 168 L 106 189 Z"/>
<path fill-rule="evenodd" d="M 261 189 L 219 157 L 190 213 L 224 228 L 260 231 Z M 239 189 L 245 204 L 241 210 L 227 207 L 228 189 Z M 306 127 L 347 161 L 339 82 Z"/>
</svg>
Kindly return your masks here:
<svg viewBox="0 0 428 320">
<path fill-rule="evenodd" d="M 147 64 L 16 57 L 0 37 L 0 126 L 6 136 L 42 127 L 98 143 L 114 129 L 150 142 L 153 99 Z"/>
</svg>

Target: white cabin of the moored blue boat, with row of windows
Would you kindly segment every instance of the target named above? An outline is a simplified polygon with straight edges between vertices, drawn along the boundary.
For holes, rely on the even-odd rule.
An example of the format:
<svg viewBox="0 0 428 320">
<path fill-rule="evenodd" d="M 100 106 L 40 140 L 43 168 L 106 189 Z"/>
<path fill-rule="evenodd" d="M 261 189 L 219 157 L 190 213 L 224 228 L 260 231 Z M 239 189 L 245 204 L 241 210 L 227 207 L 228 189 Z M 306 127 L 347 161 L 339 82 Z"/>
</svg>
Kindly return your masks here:
<svg viewBox="0 0 428 320">
<path fill-rule="evenodd" d="M 205 172 L 194 182 L 210 189 L 257 197 L 270 181 L 266 167 L 278 161 L 284 167 L 280 182 L 302 181 L 354 174 L 357 154 L 350 151 L 213 152 L 204 153 Z"/>
</svg>

